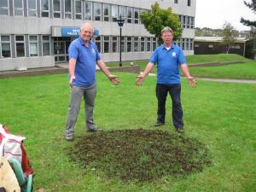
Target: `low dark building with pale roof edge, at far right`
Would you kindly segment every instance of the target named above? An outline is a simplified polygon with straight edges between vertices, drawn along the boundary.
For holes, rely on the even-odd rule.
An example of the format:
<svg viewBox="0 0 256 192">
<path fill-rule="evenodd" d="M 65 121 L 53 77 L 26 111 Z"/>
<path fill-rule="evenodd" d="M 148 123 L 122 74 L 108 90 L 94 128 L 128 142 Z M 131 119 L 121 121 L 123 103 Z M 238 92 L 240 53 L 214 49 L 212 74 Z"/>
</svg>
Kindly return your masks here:
<svg viewBox="0 0 256 192">
<path fill-rule="evenodd" d="M 195 37 L 194 53 L 195 55 L 212 55 L 226 53 L 227 49 L 222 37 Z M 231 46 L 229 53 L 245 56 L 246 39 L 236 38 L 235 43 Z"/>
</svg>

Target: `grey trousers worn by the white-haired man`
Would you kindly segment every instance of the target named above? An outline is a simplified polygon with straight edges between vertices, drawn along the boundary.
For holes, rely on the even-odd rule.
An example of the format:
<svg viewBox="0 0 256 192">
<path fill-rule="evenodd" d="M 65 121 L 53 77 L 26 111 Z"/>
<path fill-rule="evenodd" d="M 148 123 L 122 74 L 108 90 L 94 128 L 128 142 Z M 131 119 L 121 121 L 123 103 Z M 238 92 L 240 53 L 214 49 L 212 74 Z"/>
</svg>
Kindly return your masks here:
<svg viewBox="0 0 256 192">
<path fill-rule="evenodd" d="M 93 121 L 93 109 L 96 98 L 96 83 L 89 87 L 73 86 L 71 89 L 71 98 L 67 111 L 66 137 L 73 138 L 74 126 L 79 116 L 79 109 L 84 96 L 84 119 L 88 130 L 96 129 Z"/>
</svg>

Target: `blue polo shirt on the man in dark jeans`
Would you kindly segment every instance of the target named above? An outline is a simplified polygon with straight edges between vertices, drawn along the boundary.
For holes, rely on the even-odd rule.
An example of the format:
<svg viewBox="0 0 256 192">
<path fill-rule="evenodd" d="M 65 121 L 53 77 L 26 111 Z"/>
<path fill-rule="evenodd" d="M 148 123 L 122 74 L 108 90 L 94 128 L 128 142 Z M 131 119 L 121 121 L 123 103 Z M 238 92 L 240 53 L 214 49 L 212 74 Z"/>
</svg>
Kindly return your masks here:
<svg viewBox="0 0 256 192">
<path fill-rule="evenodd" d="M 158 84 L 179 84 L 179 66 L 186 64 L 183 50 L 176 44 L 172 44 L 171 49 L 167 50 L 164 44 L 154 49 L 150 62 L 157 65 Z"/>
</svg>

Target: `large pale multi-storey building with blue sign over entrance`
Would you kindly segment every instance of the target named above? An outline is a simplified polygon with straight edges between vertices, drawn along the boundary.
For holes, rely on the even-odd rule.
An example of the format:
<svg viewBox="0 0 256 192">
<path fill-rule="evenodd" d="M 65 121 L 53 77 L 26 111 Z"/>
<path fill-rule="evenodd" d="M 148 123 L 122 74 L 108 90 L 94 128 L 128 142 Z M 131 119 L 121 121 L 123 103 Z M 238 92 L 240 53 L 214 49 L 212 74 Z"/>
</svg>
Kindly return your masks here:
<svg viewBox="0 0 256 192">
<path fill-rule="evenodd" d="M 148 59 L 157 39 L 144 28 L 139 15 L 155 2 L 172 7 L 183 26 L 179 45 L 194 54 L 195 0 L 0 0 L 0 71 L 54 67 L 67 62 L 68 45 L 84 21 L 93 24 L 104 61 L 119 61 L 119 26 L 122 15 L 124 61 Z"/>
</svg>

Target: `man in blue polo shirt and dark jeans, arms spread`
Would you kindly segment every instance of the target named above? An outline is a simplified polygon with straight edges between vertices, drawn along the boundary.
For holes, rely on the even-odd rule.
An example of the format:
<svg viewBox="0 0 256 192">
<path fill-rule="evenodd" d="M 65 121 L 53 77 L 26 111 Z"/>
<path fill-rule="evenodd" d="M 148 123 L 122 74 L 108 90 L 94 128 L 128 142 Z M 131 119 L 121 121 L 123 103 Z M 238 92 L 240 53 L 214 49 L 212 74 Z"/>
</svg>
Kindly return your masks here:
<svg viewBox="0 0 256 192">
<path fill-rule="evenodd" d="M 141 85 L 150 70 L 157 65 L 156 96 L 158 99 L 157 121 L 154 126 L 164 125 L 166 121 L 166 96 L 169 92 L 172 98 L 172 122 L 178 132 L 183 132 L 183 109 L 181 105 L 179 67 L 189 80 L 191 86 L 196 85 L 195 78 L 189 74 L 183 50 L 172 44 L 172 29 L 166 26 L 161 31 L 164 44 L 154 50 L 144 72 L 137 76 L 137 85 Z"/>
</svg>

